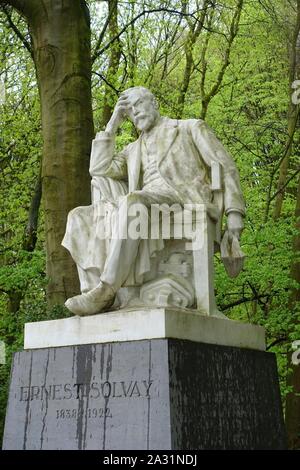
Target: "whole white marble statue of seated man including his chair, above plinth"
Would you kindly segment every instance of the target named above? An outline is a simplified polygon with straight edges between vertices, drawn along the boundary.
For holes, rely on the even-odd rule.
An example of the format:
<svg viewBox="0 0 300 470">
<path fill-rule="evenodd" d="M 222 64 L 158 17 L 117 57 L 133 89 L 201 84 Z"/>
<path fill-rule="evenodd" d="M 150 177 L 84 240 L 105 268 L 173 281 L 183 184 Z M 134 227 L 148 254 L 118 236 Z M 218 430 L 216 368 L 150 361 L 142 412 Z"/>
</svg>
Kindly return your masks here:
<svg viewBox="0 0 300 470">
<path fill-rule="evenodd" d="M 140 136 L 116 152 L 116 133 L 127 118 Z M 245 207 L 237 168 L 208 125 L 198 119 L 162 117 L 149 90 L 129 88 L 105 131 L 93 141 L 90 174 L 92 205 L 70 212 L 62 242 L 77 264 L 82 292 L 66 301 L 67 308 L 91 315 L 109 310 L 115 302 L 121 307 L 197 308 L 218 315 L 213 254 L 221 244 L 227 271 L 238 274 Z M 118 233 L 126 232 L 135 204 L 150 211 L 153 204 L 175 203 L 203 208 L 200 248 L 188 252 L 182 241 L 163 237 L 114 236 L 117 223 Z M 227 225 L 221 243 L 224 213 Z"/>
</svg>

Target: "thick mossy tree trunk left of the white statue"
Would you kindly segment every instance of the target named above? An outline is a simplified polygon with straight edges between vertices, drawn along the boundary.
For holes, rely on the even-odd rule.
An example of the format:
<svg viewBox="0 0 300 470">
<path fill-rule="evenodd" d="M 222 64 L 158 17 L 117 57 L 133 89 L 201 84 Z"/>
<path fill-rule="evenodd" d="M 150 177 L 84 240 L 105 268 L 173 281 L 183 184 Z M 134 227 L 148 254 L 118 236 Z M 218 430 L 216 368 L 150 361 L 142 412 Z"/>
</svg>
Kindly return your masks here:
<svg viewBox="0 0 300 470">
<path fill-rule="evenodd" d="M 42 191 L 51 306 L 79 291 L 76 267 L 61 241 L 68 212 L 90 201 L 88 167 L 94 129 L 89 12 L 82 0 L 6 3 L 26 17 L 33 42 L 41 99 Z"/>
</svg>

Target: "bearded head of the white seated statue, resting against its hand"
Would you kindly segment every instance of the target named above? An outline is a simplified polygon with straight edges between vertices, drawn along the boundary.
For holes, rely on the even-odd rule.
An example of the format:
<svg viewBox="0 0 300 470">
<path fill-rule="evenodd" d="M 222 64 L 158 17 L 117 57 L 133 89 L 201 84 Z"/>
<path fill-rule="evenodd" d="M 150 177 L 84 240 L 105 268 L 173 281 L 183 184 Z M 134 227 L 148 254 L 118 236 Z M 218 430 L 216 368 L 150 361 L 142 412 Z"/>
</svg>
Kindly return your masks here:
<svg viewBox="0 0 300 470">
<path fill-rule="evenodd" d="M 136 86 L 128 88 L 121 96 L 129 101 L 128 117 L 140 131 L 150 130 L 159 118 L 155 96 L 147 88 Z"/>
</svg>

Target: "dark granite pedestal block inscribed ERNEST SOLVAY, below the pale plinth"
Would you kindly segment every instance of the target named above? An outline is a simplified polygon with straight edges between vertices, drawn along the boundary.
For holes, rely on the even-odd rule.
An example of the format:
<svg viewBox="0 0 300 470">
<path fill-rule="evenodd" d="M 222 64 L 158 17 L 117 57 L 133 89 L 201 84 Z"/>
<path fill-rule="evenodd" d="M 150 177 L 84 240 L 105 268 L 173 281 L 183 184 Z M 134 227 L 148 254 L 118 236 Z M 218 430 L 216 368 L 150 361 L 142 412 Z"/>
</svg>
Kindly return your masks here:
<svg viewBox="0 0 300 470">
<path fill-rule="evenodd" d="M 283 449 L 276 361 L 155 339 L 15 354 L 4 449 Z"/>
</svg>

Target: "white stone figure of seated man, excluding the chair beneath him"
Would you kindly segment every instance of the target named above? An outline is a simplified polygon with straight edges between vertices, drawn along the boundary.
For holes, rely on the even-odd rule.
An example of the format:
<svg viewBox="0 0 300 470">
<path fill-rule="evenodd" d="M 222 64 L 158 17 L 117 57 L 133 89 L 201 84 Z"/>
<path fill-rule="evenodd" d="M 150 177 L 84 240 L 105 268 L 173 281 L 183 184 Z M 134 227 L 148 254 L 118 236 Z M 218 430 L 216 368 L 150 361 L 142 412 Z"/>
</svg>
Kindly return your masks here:
<svg viewBox="0 0 300 470">
<path fill-rule="evenodd" d="M 116 152 L 116 133 L 126 118 L 140 136 Z M 214 168 L 219 168 L 217 177 Z M 151 258 L 162 249 L 161 240 L 113 236 L 116 218 L 123 233 L 134 204 L 147 209 L 153 204 L 201 204 L 219 243 L 223 213 L 227 216 L 223 240 L 229 244 L 229 256 L 231 244 L 238 243 L 245 208 L 231 156 L 204 121 L 162 117 L 146 88 L 121 94 L 105 131 L 93 141 L 90 174 L 93 203 L 70 212 L 62 243 L 77 264 L 81 283 L 81 295 L 65 304 L 74 314 L 107 311 L 121 287 L 142 285 Z M 108 227 L 109 239 L 102 236 Z"/>
</svg>

